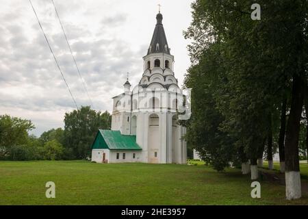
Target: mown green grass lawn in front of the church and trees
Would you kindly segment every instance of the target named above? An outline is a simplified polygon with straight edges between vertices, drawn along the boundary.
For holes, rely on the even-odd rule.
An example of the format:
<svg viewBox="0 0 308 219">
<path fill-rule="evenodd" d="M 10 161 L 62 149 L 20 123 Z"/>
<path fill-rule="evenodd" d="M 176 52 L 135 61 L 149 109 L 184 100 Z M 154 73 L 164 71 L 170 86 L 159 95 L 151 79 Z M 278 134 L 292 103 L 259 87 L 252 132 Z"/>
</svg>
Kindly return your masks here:
<svg viewBox="0 0 308 219">
<path fill-rule="evenodd" d="M 45 197 L 47 181 L 55 198 Z M 308 205 L 308 194 L 285 201 L 278 183 L 261 181 L 261 198 L 251 190 L 239 169 L 204 165 L 0 162 L 0 205 Z"/>
</svg>

